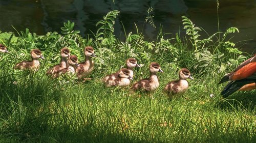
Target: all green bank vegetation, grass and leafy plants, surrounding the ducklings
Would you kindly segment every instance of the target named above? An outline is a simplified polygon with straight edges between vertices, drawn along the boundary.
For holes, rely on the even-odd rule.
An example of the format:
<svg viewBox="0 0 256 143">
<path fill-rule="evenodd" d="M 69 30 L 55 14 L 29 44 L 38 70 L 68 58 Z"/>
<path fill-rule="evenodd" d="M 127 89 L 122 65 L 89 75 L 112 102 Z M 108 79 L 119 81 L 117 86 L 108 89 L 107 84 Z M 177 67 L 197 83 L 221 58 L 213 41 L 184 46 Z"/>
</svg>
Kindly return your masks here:
<svg viewBox="0 0 256 143">
<path fill-rule="evenodd" d="M 145 24 L 153 27 L 149 9 Z M 182 16 L 186 36 L 166 38 L 159 29 L 147 41 L 139 27 L 126 32 L 125 40 L 114 35 L 119 11 L 111 11 L 96 26 L 93 36 L 81 37 L 74 22 L 64 22 L 61 33 L 37 35 L 28 29 L 0 33 L 0 42 L 10 53 L 0 59 L 0 142 L 253 142 L 256 140 L 255 91 L 237 92 L 223 99 L 218 85 L 223 75 L 250 57 L 236 48 L 230 38 L 239 33 L 230 27 L 202 39 L 203 28 Z M 90 81 L 61 76 L 51 79 L 46 70 L 60 61 L 59 50 L 84 60 L 83 48 L 92 46 L 97 58 Z M 15 71 L 18 61 L 30 59 L 40 49 L 46 60 L 38 72 Z M 105 89 L 101 78 L 118 71 L 125 59 L 136 58 L 142 68 L 134 69 L 134 81 L 148 76 L 148 65 L 158 62 L 159 88 L 152 94 L 134 93 L 130 88 Z M 181 98 L 163 93 L 164 85 L 188 68 L 195 80 Z M 133 82 L 134 82 L 133 81 Z"/>
</svg>

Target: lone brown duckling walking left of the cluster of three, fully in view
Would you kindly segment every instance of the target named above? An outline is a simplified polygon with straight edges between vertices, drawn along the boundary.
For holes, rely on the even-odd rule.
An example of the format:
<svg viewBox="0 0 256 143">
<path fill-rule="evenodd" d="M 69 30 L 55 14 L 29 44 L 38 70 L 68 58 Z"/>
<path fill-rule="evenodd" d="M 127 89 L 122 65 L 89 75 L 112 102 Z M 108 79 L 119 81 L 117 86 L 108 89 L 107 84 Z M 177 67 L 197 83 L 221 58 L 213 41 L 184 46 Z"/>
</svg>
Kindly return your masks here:
<svg viewBox="0 0 256 143">
<path fill-rule="evenodd" d="M 45 59 L 45 58 L 39 49 L 32 49 L 30 51 L 30 55 L 31 55 L 32 61 L 22 61 L 20 63 L 17 63 L 14 66 L 14 69 L 37 71 L 40 66 L 40 62 L 38 59 L 39 58 Z"/>
</svg>

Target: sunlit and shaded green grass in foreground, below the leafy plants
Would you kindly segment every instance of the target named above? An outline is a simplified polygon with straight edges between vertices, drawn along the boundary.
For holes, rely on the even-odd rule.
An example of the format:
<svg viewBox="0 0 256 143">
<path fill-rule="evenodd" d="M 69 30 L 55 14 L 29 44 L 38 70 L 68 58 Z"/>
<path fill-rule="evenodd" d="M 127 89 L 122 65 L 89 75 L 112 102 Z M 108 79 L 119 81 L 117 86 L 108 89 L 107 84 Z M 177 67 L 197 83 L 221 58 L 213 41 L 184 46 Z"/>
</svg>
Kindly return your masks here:
<svg viewBox="0 0 256 143">
<path fill-rule="evenodd" d="M 45 75 L 45 68 L 30 74 L 4 66 L 0 142 L 255 141 L 256 92 L 223 99 L 223 87 L 217 85 L 221 76 L 196 74 L 184 96 L 171 101 L 162 89 L 178 75 L 167 66 L 162 69 L 160 87 L 147 95 L 129 88 L 105 89 L 100 78 L 112 70 L 95 70 L 86 83 L 60 84 Z M 147 67 L 135 69 L 135 80 L 140 72 L 147 73 Z"/>
</svg>

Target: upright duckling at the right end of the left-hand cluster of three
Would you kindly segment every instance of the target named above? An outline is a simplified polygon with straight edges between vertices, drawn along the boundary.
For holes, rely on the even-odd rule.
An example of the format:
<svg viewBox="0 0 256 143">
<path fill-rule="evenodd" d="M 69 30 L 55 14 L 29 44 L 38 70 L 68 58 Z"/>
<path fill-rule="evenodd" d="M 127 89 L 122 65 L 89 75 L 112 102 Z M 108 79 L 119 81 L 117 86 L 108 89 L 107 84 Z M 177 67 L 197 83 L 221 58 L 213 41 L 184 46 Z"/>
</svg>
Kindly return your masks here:
<svg viewBox="0 0 256 143">
<path fill-rule="evenodd" d="M 78 79 L 88 77 L 94 69 L 94 61 L 92 60 L 92 57 L 96 57 L 96 55 L 94 54 L 93 47 L 85 47 L 84 56 L 86 56 L 86 60 L 83 63 L 79 63 L 79 67 L 77 68 Z"/>
</svg>

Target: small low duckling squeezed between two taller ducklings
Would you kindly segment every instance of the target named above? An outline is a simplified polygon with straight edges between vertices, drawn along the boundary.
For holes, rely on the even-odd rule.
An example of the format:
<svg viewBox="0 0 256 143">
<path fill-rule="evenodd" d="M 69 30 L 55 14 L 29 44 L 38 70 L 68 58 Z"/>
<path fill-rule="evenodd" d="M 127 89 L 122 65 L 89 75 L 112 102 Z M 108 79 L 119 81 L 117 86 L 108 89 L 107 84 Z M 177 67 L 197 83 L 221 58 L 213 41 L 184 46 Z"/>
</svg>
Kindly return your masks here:
<svg viewBox="0 0 256 143">
<path fill-rule="evenodd" d="M 77 67 L 79 67 L 78 65 L 78 58 L 75 55 L 71 55 L 69 60 L 69 67 L 66 69 L 62 69 L 58 72 L 58 74 L 65 74 L 65 73 L 71 73 L 72 75 L 74 75 L 77 71 Z"/>
</svg>

